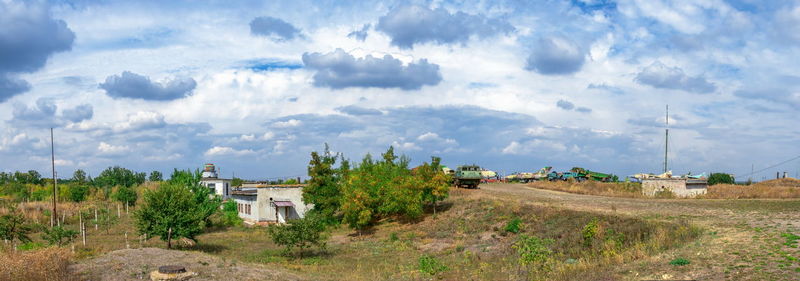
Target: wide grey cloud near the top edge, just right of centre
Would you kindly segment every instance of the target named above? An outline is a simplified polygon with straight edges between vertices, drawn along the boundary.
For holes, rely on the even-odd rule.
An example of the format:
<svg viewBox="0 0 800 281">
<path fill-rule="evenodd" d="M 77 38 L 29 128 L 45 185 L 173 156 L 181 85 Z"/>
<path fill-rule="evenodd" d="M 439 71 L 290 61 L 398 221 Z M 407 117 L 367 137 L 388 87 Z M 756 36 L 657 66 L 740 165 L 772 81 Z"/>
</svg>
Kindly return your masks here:
<svg viewBox="0 0 800 281">
<path fill-rule="evenodd" d="M 504 19 L 413 5 L 395 7 L 378 20 L 375 29 L 389 35 L 392 45 L 404 49 L 429 42 L 466 44 L 473 36 L 486 38 L 515 30 Z"/>
</svg>

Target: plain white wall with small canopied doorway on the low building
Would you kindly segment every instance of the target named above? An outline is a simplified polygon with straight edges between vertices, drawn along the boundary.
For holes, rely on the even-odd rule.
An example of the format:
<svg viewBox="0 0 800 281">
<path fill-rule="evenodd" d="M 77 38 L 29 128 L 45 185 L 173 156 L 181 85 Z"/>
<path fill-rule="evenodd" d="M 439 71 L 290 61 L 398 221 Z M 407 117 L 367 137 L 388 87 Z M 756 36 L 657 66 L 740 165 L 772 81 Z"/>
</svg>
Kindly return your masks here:
<svg viewBox="0 0 800 281">
<path fill-rule="evenodd" d="M 294 208 L 291 208 L 288 212 L 288 219 L 303 218 L 305 213 L 313 207 L 311 204 L 303 203 L 303 188 L 301 187 L 258 188 L 259 221 L 276 221 L 277 214 L 275 213 L 275 207 L 270 206 L 270 198 L 273 200 L 289 200 L 294 204 Z M 283 216 L 283 213 L 281 213 L 281 216 Z"/>
</svg>

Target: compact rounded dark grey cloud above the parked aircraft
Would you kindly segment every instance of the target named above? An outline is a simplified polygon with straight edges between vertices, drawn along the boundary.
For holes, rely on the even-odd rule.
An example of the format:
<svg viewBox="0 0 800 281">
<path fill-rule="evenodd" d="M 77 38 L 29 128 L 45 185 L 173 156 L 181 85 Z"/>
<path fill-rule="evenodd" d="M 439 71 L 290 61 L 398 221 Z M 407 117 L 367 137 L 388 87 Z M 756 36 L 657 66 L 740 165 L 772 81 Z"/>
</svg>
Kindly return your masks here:
<svg viewBox="0 0 800 281">
<path fill-rule="evenodd" d="M 561 37 L 540 38 L 525 69 L 544 75 L 572 74 L 581 70 L 584 60 L 585 51 L 575 42 Z"/>
</svg>

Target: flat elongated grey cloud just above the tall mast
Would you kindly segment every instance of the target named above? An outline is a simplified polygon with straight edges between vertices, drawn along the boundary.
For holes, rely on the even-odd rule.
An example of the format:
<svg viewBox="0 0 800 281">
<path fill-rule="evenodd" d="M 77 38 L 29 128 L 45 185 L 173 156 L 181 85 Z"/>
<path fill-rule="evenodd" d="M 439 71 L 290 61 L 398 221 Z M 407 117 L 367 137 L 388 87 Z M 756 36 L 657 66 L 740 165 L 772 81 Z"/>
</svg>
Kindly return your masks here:
<svg viewBox="0 0 800 281">
<path fill-rule="evenodd" d="M 636 82 L 654 88 L 683 90 L 696 94 L 714 92 L 717 87 L 702 76 L 688 76 L 678 67 L 668 67 L 661 62 L 654 62 L 636 75 Z"/>
</svg>

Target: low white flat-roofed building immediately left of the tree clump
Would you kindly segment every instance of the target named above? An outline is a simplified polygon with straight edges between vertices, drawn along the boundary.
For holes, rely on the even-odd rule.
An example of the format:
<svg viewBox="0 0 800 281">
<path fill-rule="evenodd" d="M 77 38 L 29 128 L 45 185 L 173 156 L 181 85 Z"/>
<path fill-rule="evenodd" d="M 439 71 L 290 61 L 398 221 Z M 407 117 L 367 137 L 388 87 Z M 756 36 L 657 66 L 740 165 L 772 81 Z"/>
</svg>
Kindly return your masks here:
<svg viewBox="0 0 800 281">
<path fill-rule="evenodd" d="M 251 223 L 285 223 L 303 218 L 313 205 L 303 202 L 304 185 L 257 185 L 231 192 L 239 217 Z"/>
</svg>

